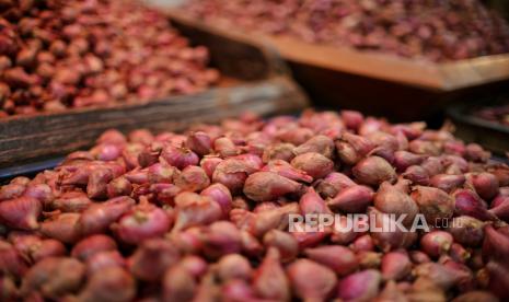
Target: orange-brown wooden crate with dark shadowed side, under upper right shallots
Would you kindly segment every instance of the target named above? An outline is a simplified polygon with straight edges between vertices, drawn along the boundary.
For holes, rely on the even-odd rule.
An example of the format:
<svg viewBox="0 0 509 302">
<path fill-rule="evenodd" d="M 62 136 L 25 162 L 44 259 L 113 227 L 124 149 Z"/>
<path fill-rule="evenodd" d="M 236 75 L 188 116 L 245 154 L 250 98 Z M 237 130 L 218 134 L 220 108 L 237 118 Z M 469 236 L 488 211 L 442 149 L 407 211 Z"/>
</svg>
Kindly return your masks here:
<svg viewBox="0 0 509 302">
<path fill-rule="evenodd" d="M 188 26 L 213 26 L 177 8 L 169 13 Z M 231 28 L 219 32 L 231 35 Z M 360 109 L 394 120 L 427 118 L 443 113 L 450 103 L 509 82 L 509 55 L 436 63 L 291 37 L 258 36 L 287 60 L 314 104 Z"/>
</svg>

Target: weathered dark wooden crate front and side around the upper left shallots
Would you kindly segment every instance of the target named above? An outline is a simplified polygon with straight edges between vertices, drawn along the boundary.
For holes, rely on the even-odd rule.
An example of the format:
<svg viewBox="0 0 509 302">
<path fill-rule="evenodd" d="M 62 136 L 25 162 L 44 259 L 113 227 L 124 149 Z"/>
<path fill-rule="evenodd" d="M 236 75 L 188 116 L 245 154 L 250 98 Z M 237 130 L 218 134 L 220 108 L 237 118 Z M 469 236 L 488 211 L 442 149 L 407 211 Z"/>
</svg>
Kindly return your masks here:
<svg viewBox="0 0 509 302">
<path fill-rule="evenodd" d="M 218 88 L 151 102 L 2 118 L 0 167 L 45 161 L 88 148 L 109 128 L 183 130 L 195 123 L 215 123 L 246 111 L 273 115 L 306 106 L 308 98 L 288 77 L 286 65 L 263 43 L 211 28 L 188 27 L 178 20 L 173 23 L 192 43 L 210 49 L 212 65 L 224 76 Z"/>
</svg>

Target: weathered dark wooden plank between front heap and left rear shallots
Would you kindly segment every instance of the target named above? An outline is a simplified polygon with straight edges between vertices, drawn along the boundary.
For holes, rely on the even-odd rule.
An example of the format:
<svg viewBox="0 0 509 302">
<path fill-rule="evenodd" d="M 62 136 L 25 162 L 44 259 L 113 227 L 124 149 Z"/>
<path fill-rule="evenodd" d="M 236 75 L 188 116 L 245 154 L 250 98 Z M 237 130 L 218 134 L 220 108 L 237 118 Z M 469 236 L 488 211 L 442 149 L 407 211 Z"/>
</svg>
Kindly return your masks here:
<svg viewBox="0 0 509 302">
<path fill-rule="evenodd" d="M 251 111 L 261 115 L 291 113 L 306 98 L 288 78 L 275 77 L 234 88 L 213 89 L 169 100 L 15 117 L 0 123 L 0 166 L 12 166 L 86 148 L 104 130 L 183 130 L 196 123 L 215 123 Z"/>
</svg>

